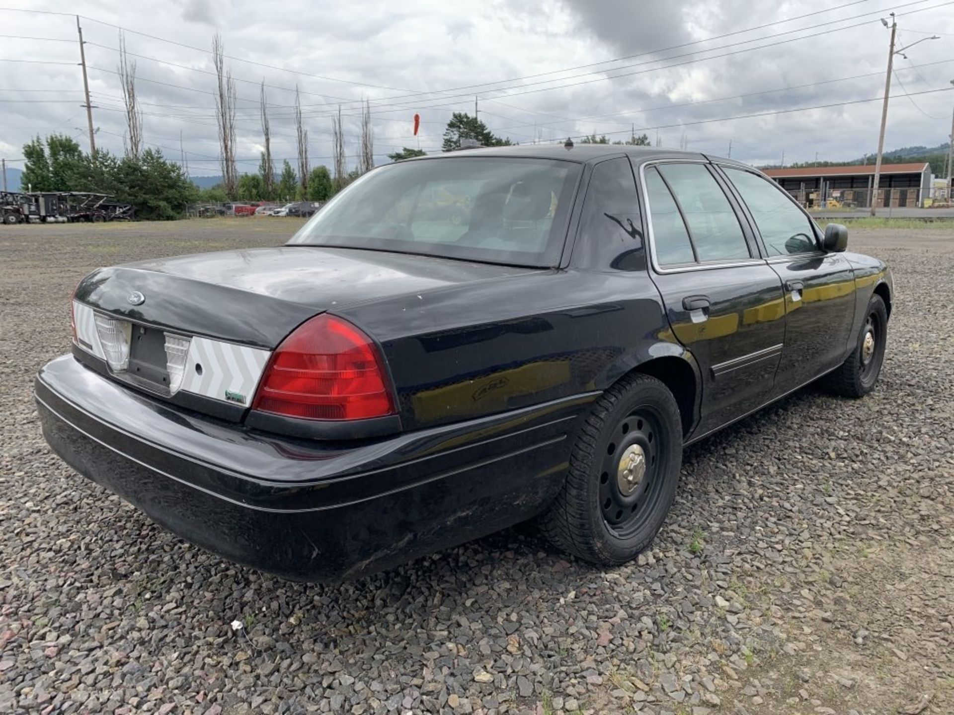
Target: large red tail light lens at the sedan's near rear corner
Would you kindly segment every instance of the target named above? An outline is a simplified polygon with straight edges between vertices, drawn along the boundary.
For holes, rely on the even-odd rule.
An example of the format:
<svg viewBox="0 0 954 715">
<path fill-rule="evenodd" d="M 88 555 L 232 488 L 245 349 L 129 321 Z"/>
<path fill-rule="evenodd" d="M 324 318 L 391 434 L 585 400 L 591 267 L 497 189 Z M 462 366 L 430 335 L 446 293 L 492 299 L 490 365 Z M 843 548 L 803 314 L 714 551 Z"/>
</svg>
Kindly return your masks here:
<svg viewBox="0 0 954 715">
<path fill-rule="evenodd" d="M 322 314 L 281 342 L 252 409 L 300 419 L 368 419 L 393 415 L 394 401 L 371 338 Z"/>
</svg>

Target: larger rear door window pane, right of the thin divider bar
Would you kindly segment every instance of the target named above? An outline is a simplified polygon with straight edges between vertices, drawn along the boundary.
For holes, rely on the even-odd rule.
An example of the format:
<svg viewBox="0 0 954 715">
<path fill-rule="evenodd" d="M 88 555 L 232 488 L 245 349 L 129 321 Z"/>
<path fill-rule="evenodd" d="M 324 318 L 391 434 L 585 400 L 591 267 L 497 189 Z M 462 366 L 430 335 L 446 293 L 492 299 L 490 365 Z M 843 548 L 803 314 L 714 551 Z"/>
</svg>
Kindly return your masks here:
<svg viewBox="0 0 954 715">
<path fill-rule="evenodd" d="M 696 260 L 749 258 L 749 246 L 728 197 L 702 164 L 664 164 L 658 171 L 685 220 Z"/>
</svg>

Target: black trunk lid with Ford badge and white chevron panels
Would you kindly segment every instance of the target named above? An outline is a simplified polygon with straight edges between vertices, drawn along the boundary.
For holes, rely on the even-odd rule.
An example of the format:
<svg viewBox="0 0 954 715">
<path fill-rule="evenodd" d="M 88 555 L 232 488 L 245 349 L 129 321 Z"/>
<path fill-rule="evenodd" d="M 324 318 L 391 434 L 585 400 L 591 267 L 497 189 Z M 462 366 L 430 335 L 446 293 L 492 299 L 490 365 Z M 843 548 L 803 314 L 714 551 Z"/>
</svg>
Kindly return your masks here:
<svg viewBox="0 0 954 715">
<path fill-rule="evenodd" d="M 240 419 L 268 358 L 325 311 L 530 269 L 422 255 L 286 246 L 186 255 L 95 271 L 73 301 L 76 341 L 112 377 Z M 181 395 L 180 395 L 181 393 Z M 239 410 L 239 412 L 235 412 Z"/>
</svg>

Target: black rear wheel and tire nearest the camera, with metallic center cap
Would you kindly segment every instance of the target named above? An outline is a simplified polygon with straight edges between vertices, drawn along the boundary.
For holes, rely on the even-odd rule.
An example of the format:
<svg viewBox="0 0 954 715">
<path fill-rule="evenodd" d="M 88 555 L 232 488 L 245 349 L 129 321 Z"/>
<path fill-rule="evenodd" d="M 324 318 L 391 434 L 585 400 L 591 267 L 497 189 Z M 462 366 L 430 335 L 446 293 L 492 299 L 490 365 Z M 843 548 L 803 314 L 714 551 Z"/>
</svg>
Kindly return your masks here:
<svg viewBox="0 0 954 715">
<path fill-rule="evenodd" d="M 585 561 L 628 562 L 662 527 L 681 465 L 682 421 L 673 394 L 647 375 L 623 378 L 584 421 L 543 531 Z"/>
</svg>

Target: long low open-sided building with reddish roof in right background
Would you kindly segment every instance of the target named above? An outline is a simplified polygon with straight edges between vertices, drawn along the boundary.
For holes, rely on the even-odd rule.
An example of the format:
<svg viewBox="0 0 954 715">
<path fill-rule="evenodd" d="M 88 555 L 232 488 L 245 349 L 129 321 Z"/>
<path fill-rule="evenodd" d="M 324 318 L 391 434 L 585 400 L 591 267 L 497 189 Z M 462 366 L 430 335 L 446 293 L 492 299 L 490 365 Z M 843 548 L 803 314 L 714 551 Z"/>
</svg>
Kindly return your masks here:
<svg viewBox="0 0 954 715">
<path fill-rule="evenodd" d="M 765 169 L 764 172 L 809 209 L 871 206 L 873 164 Z M 930 164 L 881 164 L 877 206 L 924 206 L 930 195 Z"/>
</svg>

